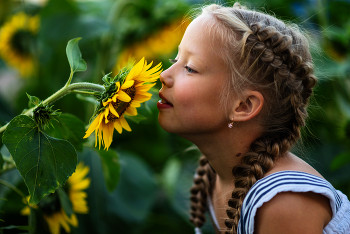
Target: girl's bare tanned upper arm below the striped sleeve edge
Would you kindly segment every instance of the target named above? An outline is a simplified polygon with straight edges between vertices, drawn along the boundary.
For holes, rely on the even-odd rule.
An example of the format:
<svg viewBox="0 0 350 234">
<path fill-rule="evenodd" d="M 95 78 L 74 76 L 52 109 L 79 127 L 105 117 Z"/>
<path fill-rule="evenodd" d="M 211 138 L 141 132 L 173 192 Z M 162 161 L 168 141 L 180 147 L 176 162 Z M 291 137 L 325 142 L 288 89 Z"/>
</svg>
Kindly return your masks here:
<svg viewBox="0 0 350 234">
<path fill-rule="evenodd" d="M 332 210 L 325 196 L 283 192 L 257 210 L 254 233 L 319 234 L 331 219 Z"/>
</svg>

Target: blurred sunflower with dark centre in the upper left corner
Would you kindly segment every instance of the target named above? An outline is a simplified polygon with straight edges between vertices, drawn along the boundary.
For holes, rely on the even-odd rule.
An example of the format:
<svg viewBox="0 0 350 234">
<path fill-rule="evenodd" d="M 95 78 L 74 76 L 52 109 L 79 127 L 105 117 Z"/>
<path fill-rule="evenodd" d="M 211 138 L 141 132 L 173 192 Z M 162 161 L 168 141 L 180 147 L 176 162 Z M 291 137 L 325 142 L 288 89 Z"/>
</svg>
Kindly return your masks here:
<svg viewBox="0 0 350 234">
<path fill-rule="evenodd" d="M 0 57 L 23 77 L 30 76 L 34 70 L 30 49 L 38 28 L 39 16 L 19 12 L 0 29 Z"/>
</svg>

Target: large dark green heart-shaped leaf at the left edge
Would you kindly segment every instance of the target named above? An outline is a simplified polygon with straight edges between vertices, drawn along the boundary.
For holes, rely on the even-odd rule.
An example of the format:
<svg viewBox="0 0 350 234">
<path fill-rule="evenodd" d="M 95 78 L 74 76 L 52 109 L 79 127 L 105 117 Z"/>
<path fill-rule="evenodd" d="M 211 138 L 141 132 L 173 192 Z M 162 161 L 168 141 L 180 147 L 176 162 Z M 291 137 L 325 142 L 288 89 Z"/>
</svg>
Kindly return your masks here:
<svg viewBox="0 0 350 234">
<path fill-rule="evenodd" d="M 32 206 L 63 185 L 77 165 L 77 153 L 68 141 L 50 137 L 26 115 L 11 120 L 3 143 L 27 185 Z"/>
</svg>

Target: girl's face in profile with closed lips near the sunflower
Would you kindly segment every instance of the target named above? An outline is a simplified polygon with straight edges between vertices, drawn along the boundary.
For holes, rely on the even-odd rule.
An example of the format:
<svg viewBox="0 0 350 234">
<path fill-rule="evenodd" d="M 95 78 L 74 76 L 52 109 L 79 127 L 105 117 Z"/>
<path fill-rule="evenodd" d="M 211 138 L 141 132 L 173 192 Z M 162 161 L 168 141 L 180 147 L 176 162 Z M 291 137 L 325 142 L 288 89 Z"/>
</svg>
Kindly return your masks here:
<svg viewBox="0 0 350 234">
<path fill-rule="evenodd" d="M 221 105 L 229 72 L 217 52 L 220 41 L 214 32 L 209 33 L 208 20 L 213 19 L 201 16 L 188 26 L 174 64 L 160 77 L 159 123 L 184 137 L 214 133 L 229 122 Z"/>
</svg>

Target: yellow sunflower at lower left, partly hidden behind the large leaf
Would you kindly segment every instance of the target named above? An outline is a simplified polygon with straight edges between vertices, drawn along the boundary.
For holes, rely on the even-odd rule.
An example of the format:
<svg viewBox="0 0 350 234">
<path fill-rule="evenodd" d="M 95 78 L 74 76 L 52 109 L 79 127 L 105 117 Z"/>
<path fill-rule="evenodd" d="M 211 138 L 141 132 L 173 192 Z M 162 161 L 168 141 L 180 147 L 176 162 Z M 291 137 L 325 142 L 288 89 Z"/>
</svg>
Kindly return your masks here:
<svg viewBox="0 0 350 234">
<path fill-rule="evenodd" d="M 89 170 L 90 169 L 88 166 L 84 166 L 84 164 L 80 162 L 75 172 L 71 175 L 71 177 L 69 177 L 64 186 L 73 208 L 73 213 L 70 217 L 68 217 L 66 212 L 63 210 L 57 192 L 45 196 L 38 203 L 38 205 L 32 207 L 34 209 L 40 208 L 42 210 L 44 219 L 47 222 L 52 234 L 59 234 L 61 226 L 67 233 L 70 233 L 70 225 L 73 227 L 78 227 L 76 213 L 87 214 L 89 212 L 89 207 L 87 206 L 87 202 L 85 200 L 87 193 L 83 191 L 90 185 L 90 179 L 86 178 Z M 27 197 L 27 201 L 29 201 L 29 196 Z M 28 202 L 26 203 L 28 204 Z M 29 215 L 29 206 L 22 209 L 21 214 Z"/>
</svg>

